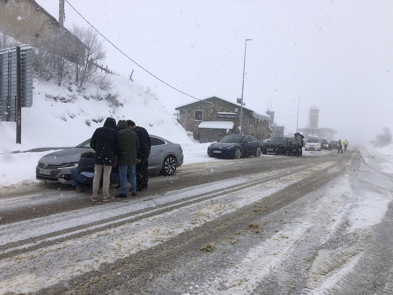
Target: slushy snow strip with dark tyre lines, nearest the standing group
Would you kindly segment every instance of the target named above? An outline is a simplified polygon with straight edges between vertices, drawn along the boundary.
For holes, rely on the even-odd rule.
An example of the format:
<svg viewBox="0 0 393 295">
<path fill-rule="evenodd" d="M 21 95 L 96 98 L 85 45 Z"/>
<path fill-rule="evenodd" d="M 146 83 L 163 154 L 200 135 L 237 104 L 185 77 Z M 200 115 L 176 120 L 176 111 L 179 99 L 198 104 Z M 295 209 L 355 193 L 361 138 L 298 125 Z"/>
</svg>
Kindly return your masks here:
<svg viewBox="0 0 393 295">
<path fill-rule="evenodd" d="M 301 167 L 300 169 L 303 168 L 304 167 Z M 296 169 L 294 173 L 298 173 L 298 171 L 299 169 Z M 151 202 L 139 200 L 138 204 L 132 204 L 131 206 L 113 204 L 112 209 L 110 209 L 110 207 L 109 210 L 105 210 L 105 208 L 101 206 L 97 208 L 97 210 L 90 209 L 89 213 L 86 212 L 88 209 L 80 209 L 76 210 L 76 212 L 66 212 L 4 225 L 0 227 L 0 229 L 2 229 L 2 234 L 0 236 L 0 243 L 2 243 L 0 246 L 0 257 L 9 256 L 7 253 L 26 250 L 40 245 L 41 243 L 54 243 L 74 235 L 92 233 L 108 225 L 137 221 L 143 217 L 160 214 L 165 210 L 171 210 L 179 206 L 187 206 L 195 201 L 213 198 L 224 192 L 235 192 L 248 186 L 276 179 L 277 176 L 280 175 L 288 175 L 288 171 L 285 169 L 277 172 L 258 173 L 248 177 L 218 181 L 209 185 L 200 185 L 167 192 L 164 196 L 160 196 L 158 199 Z M 233 185 L 233 183 L 235 183 L 235 185 Z M 190 190 L 193 193 L 190 193 Z M 102 212 L 103 210 L 105 210 L 105 212 Z M 104 213 L 106 217 L 112 216 L 112 218 L 102 219 Z M 72 216 L 71 218 L 70 215 Z M 101 221 L 99 224 L 91 225 L 100 219 Z M 75 224 L 77 226 L 75 226 Z M 15 232 L 18 232 L 18 234 L 15 234 Z M 26 238 L 28 236 L 30 236 L 30 238 Z M 42 239 L 43 237 L 44 239 Z M 22 240 L 22 238 L 24 239 Z"/>
</svg>

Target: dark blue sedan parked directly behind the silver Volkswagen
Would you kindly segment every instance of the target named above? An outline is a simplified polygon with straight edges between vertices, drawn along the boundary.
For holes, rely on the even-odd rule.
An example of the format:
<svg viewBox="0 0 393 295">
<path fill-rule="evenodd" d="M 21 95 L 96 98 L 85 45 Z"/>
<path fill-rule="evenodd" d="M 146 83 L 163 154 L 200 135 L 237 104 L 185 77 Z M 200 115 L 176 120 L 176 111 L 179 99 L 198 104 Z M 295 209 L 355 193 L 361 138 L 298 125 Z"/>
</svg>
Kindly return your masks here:
<svg viewBox="0 0 393 295">
<path fill-rule="evenodd" d="M 262 143 L 250 135 L 227 135 L 208 147 L 209 157 L 224 156 L 233 159 L 255 156 L 261 157 L 266 154 Z"/>
</svg>

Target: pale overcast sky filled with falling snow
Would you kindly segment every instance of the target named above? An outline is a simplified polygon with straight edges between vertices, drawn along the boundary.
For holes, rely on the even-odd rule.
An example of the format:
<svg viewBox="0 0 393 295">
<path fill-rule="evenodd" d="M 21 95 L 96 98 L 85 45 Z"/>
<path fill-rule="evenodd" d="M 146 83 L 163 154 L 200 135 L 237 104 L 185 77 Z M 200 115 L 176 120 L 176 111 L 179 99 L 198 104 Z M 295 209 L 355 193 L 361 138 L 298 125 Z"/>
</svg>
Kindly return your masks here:
<svg viewBox="0 0 393 295">
<path fill-rule="evenodd" d="M 336 138 L 370 140 L 393 127 L 393 1 L 68 0 L 101 33 L 156 76 L 197 98 L 241 96 L 276 117 L 307 124 L 320 107 L 320 127 Z M 37 0 L 58 17 L 58 0 Z M 88 26 L 65 4 L 66 22 Z M 126 59 L 108 42 L 108 66 L 152 86 L 171 111 L 192 101 Z M 137 110 L 136 110 L 137 111 Z M 276 118 L 286 133 L 296 118 Z"/>
</svg>

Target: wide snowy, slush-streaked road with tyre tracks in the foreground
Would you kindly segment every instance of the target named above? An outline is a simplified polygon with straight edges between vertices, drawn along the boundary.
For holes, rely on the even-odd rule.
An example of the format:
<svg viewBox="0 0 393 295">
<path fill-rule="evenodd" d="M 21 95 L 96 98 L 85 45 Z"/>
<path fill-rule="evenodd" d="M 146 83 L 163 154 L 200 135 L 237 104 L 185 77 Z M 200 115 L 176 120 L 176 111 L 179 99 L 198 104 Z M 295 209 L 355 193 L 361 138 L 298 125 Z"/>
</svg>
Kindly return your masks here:
<svg viewBox="0 0 393 295">
<path fill-rule="evenodd" d="M 0 294 L 392 294 L 380 165 L 321 151 L 184 166 L 113 203 L 4 194 Z"/>
</svg>

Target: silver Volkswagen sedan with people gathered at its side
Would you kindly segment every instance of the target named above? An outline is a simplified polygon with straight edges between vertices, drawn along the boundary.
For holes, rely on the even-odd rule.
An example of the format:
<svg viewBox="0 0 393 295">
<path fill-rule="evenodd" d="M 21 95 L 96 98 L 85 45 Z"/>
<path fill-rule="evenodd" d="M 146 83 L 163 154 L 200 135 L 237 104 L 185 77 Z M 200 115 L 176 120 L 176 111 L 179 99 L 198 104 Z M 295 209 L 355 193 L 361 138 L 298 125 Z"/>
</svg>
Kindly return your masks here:
<svg viewBox="0 0 393 295">
<path fill-rule="evenodd" d="M 55 151 L 39 159 L 35 168 L 36 179 L 72 184 L 70 170 L 78 166 L 81 153 L 86 149 L 91 149 L 90 139 L 79 144 L 79 146 Z M 150 139 L 149 172 L 173 175 L 176 168 L 183 164 L 182 147 L 180 144 L 175 144 L 160 136 L 150 135 Z"/>
</svg>

